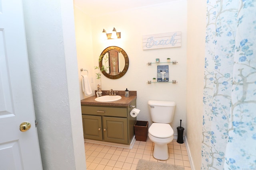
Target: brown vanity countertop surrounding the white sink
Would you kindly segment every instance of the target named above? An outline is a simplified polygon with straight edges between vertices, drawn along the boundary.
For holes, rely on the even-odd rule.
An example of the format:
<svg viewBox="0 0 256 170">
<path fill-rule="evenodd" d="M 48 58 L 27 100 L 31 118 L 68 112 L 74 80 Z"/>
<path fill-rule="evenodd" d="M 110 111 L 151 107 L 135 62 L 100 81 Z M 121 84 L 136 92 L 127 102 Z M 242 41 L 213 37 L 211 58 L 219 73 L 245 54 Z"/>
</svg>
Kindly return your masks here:
<svg viewBox="0 0 256 170">
<path fill-rule="evenodd" d="M 102 94 L 104 94 L 104 92 Z M 114 102 L 97 102 L 97 101 L 95 101 L 95 98 L 97 98 L 97 97 L 91 96 L 89 98 L 85 98 L 85 99 L 81 100 L 81 105 L 82 106 L 90 105 L 90 106 L 118 106 L 118 107 L 123 106 L 123 107 L 127 107 L 127 106 L 130 106 L 130 103 L 137 98 L 136 91 L 130 91 L 130 95 L 128 98 L 124 97 L 124 94 L 122 95 L 122 92 L 119 92 L 119 94 L 117 94 L 117 95 L 121 96 L 122 98 L 120 100 L 117 100 Z"/>
</svg>

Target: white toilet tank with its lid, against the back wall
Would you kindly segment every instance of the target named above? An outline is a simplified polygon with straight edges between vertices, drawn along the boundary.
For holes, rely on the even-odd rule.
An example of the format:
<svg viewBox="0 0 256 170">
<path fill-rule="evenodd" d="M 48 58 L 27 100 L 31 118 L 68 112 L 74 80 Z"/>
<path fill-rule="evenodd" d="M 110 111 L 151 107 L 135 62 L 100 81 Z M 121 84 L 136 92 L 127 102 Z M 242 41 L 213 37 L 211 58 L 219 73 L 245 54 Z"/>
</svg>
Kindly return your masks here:
<svg viewBox="0 0 256 170">
<path fill-rule="evenodd" d="M 171 123 L 176 103 L 171 101 L 149 100 L 150 117 L 154 123 Z"/>
</svg>

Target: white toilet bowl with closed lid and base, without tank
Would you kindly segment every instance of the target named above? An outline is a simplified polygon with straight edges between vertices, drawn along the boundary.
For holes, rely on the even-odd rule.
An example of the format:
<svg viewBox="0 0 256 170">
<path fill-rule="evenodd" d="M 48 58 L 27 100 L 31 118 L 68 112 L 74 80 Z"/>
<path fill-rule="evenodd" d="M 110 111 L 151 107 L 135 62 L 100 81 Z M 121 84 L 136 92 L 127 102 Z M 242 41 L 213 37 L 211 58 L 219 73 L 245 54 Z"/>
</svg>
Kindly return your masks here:
<svg viewBox="0 0 256 170">
<path fill-rule="evenodd" d="M 169 158 L 168 143 L 173 140 L 173 129 L 166 123 L 153 123 L 148 129 L 148 137 L 154 142 L 153 156 L 159 160 Z"/>
</svg>

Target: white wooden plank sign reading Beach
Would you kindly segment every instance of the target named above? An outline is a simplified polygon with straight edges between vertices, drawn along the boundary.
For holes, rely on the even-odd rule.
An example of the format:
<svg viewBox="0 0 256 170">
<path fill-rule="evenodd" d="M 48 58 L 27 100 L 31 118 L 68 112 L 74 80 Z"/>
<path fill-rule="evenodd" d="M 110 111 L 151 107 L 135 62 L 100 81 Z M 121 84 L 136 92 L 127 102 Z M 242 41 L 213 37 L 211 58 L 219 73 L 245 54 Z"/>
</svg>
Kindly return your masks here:
<svg viewBox="0 0 256 170">
<path fill-rule="evenodd" d="M 181 31 L 142 36 L 142 49 L 181 47 Z"/>
</svg>

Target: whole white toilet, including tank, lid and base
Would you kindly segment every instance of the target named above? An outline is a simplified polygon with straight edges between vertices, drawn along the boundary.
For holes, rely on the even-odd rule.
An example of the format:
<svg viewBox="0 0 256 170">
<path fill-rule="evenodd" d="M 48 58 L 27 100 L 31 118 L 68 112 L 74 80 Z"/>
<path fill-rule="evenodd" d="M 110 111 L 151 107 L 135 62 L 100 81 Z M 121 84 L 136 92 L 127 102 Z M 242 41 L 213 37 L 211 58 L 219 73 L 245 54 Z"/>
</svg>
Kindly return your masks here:
<svg viewBox="0 0 256 170">
<path fill-rule="evenodd" d="M 154 142 L 153 156 L 159 160 L 169 158 L 168 143 L 173 140 L 172 122 L 176 103 L 171 101 L 148 101 L 150 117 L 153 121 L 148 129 L 148 137 Z"/>
</svg>

